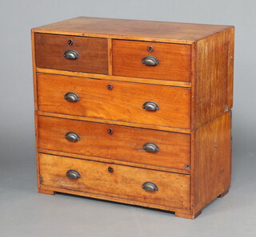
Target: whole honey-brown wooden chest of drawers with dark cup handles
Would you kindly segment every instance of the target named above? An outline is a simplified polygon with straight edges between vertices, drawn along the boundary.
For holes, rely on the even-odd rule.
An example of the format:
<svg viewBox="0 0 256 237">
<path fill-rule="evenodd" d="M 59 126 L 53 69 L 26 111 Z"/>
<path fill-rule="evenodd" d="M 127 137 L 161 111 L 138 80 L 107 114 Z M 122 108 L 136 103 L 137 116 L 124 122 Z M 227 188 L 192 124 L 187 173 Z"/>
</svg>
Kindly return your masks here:
<svg viewBox="0 0 256 237">
<path fill-rule="evenodd" d="M 32 49 L 38 192 L 190 219 L 228 192 L 233 26 L 74 18 Z"/>
</svg>

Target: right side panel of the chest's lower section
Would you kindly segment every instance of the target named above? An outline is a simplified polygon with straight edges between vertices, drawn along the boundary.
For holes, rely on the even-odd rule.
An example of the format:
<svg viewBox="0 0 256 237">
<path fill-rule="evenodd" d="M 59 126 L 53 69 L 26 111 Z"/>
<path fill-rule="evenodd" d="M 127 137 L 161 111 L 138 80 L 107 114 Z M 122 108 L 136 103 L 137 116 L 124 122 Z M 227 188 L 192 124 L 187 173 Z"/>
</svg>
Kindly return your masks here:
<svg viewBox="0 0 256 237">
<path fill-rule="evenodd" d="M 199 211 L 230 187 L 230 112 L 194 132 L 194 208 Z"/>
</svg>

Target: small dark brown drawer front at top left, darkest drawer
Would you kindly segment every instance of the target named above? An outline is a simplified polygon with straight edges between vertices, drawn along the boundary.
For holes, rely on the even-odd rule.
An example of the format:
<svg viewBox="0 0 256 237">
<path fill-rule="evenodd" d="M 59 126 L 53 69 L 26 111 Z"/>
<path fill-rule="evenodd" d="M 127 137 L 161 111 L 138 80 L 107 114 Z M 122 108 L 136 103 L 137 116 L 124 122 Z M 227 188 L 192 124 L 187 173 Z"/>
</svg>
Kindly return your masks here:
<svg viewBox="0 0 256 237">
<path fill-rule="evenodd" d="M 103 38 L 35 34 L 35 50 L 38 68 L 108 73 L 107 40 Z"/>
</svg>

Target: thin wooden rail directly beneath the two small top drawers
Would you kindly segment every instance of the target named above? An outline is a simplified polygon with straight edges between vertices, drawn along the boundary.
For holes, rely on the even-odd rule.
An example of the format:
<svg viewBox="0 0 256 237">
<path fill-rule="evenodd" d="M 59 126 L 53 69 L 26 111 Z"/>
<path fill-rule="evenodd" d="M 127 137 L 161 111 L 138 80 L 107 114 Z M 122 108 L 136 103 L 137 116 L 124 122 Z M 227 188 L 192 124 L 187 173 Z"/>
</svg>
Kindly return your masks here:
<svg viewBox="0 0 256 237">
<path fill-rule="evenodd" d="M 74 76 L 74 77 L 87 77 L 87 78 L 95 78 L 95 79 L 106 79 L 110 81 L 128 81 L 128 82 L 138 82 L 152 85 L 172 85 L 178 87 L 191 87 L 190 82 L 184 81 L 166 81 L 166 80 L 154 80 L 149 78 L 138 78 L 138 77 L 118 77 L 118 76 L 110 76 L 104 74 L 95 74 L 95 73 L 81 73 L 81 72 L 71 72 L 64 70 L 55 70 L 55 69 L 41 69 L 37 68 L 36 71 L 38 73 L 49 73 L 49 74 L 57 74 L 57 75 L 66 75 L 66 76 Z"/>
</svg>

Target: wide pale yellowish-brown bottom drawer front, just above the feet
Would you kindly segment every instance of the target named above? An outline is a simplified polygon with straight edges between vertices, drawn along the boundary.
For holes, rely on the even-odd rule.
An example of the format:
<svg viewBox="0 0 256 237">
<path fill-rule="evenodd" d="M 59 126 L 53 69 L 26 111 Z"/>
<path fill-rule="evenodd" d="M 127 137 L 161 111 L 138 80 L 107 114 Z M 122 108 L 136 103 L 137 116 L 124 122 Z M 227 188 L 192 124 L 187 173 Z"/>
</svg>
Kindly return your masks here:
<svg viewBox="0 0 256 237">
<path fill-rule="evenodd" d="M 162 206 L 190 207 L 190 176 L 39 154 L 42 186 L 114 196 Z M 70 177 L 68 177 L 70 176 Z M 75 179 L 77 178 L 77 179 Z M 146 182 L 154 183 L 145 184 Z M 147 191 L 142 188 L 152 188 Z M 153 187 L 152 187 L 153 186 Z"/>
</svg>

